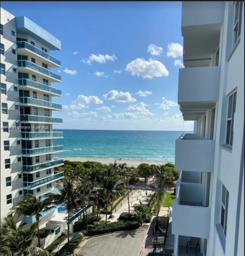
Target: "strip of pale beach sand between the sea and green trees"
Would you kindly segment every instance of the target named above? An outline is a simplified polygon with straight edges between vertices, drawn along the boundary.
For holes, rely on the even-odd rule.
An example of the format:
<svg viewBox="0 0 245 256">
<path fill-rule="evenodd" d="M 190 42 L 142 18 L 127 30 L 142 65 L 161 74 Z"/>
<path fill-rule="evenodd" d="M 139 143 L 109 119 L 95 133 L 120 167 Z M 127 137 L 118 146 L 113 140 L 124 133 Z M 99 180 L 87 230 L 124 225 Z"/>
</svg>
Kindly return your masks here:
<svg viewBox="0 0 245 256">
<path fill-rule="evenodd" d="M 115 159 L 108 159 L 108 158 L 64 158 L 64 160 L 80 161 L 80 162 L 96 161 L 96 162 L 100 162 L 100 163 L 104 163 L 104 164 L 114 163 L 114 161 L 115 161 Z M 137 167 L 140 163 L 159 165 L 159 164 L 165 164 L 166 162 L 122 159 L 122 160 L 117 160 L 117 163 L 127 163 L 127 165 L 129 167 L 131 167 L 131 166 Z"/>
</svg>

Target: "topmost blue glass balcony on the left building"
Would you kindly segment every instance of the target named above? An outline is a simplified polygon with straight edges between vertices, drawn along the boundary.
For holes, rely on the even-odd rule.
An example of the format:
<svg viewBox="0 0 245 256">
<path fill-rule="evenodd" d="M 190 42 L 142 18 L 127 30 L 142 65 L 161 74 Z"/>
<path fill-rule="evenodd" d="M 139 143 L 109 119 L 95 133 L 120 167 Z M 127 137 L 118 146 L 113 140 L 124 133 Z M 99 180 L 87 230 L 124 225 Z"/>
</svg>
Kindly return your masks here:
<svg viewBox="0 0 245 256">
<path fill-rule="evenodd" d="M 60 68 L 61 61 L 54 56 L 42 51 L 41 49 L 35 47 L 34 45 L 29 44 L 28 42 L 17 42 L 17 52 L 21 55 L 26 55 L 26 51 L 31 53 L 33 57 L 40 57 L 41 59 L 45 59 L 48 61 L 48 64 L 53 67 Z"/>
</svg>

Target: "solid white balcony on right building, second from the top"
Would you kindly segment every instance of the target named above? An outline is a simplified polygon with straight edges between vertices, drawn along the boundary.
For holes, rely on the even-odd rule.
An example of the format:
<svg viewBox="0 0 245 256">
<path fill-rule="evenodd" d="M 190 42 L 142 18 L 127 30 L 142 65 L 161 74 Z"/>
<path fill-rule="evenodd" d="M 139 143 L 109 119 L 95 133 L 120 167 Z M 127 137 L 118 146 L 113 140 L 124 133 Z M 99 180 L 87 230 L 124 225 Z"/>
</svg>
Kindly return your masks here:
<svg viewBox="0 0 245 256">
<path fill-rule="evenodd" d="M 179 69 L 178 104 L 181 110 L 207 110 L 215 107 L 219 87 L 219 66 Z"/>
</svg>

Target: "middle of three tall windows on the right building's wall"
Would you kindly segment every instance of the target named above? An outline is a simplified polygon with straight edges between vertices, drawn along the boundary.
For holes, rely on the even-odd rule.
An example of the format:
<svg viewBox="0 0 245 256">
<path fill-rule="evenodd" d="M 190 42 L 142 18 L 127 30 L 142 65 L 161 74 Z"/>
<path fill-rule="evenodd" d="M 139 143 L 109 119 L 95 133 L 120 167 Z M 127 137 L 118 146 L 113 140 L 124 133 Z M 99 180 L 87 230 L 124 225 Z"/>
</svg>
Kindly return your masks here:
<svg viewBox="0 0 245 256">
<path fill-rule="evenodd" d="M 226 144 L 232 146 L 233 144 L 233 127 L 234 127 L 234 117 L 236 112 L 236 101 L 237 92 L 229 96 L 228 103 L 228 115 L 226 122 Z"/>
</svg>

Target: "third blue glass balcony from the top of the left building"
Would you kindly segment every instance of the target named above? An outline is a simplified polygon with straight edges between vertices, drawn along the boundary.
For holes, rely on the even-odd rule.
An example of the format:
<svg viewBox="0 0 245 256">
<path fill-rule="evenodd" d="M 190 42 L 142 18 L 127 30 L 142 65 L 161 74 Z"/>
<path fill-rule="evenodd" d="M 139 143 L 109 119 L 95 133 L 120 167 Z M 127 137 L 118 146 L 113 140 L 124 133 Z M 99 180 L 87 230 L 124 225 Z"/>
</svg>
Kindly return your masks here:
<svg viewBox="0 0 245 256">
<path fill-rule="evenodd" d="M 49 93 L 51 96 L 61 96 L 61 90 L 54 87 L 41 84 L 30 79 L 19 79 L 19 89 L 31 88 L 35 90 L 40 90 L 41 92 Z"/>
</svg>

